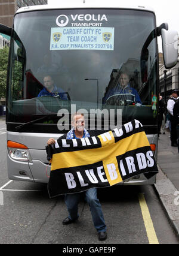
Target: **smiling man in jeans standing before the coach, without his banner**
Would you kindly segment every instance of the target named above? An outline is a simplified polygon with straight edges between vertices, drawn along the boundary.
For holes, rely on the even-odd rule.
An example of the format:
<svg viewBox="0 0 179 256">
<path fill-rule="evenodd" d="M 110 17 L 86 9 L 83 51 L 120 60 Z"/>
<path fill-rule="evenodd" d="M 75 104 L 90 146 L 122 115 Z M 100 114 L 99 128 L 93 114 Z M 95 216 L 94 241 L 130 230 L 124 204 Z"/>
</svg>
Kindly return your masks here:
<svg viewBox="0 0 179 256">
<path fill-rule="evenodd" d="M 84 138 L 84 137 L 91 137 L 98 135 L 97 133 L 101 133 L 100 131 L 87 131 L 85 129 L 85 119 L 83 114 L 75 114 L 72 115 L 72 126 L 73 128 L 67 133 L 64 134 L 61 138 L 73 139 L 73 138 Z M 54 138 L 50 138 L 47 141 L 48 146 L 50 144 L 54 144 Z M 94 223 L 94 227 L 98 232 L 98 239 L 99 240 L 106 240 L 106 224 L 104 221 L 103 212 L 101 209 L 100 201 L 97 198 L 97 188 L 88 189 L 85 192 L 81 193 L 73 193 L 73 194 L 66 194 L 64 197 L 67 210 L 69 212 L 69 216 L 63 220 L 63 225 L 71 224 L 78 220 L 78 203 L 81 197 L 81 194 L 85 194 L 85 199 L 87 200 L 91 215 L 92 221 Z"/>
</svg>

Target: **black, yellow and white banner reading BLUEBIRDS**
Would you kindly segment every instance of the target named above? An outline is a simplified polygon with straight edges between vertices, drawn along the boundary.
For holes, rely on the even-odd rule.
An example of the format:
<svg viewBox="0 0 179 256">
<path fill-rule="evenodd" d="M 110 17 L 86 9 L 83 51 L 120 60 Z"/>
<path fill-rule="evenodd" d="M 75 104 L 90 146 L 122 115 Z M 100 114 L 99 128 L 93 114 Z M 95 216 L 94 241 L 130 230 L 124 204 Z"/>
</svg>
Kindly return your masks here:
<svg viewBox="0 0 179 256">
<path fill-rule="evenodd" d="M 141 173 L 149 179 L 158 173 L 149 141 L 137 120 L 96 137 L 58 138 L 53 149 L 49 147 L 48 157 L 50 153 L 50 197 L 112 186 Z"/>
</svg>

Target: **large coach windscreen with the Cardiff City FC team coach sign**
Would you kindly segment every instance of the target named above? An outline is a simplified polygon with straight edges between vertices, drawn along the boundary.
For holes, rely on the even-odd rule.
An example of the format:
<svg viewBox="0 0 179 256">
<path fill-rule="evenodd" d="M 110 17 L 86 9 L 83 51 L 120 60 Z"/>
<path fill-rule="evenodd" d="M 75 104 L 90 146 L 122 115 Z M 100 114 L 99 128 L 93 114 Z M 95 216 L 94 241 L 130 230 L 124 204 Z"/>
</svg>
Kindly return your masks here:
<svg viewBox="0 0 179 256">
<path fill-rule="evenodd" d="M 36 132 L 51 132 L 52 127 L 53 132 L 58 131 L 59 111 L 68 117 L 75 108 L 89 114 L 106 110 L 110 115 L 114 110 L 115 122 L 117 110 L 121 110 L 122 124 L 137 119 L 144 127 L 156 129 L 155 28 L 155 15 L 141 10 L 16 14 L 10 48 L 8 128 L 16 131 L 22 125 L 22 131 L 33 131 L 36 125 Z M 31 125 L 23 126 L 27 123 Z"/>
</svg>

